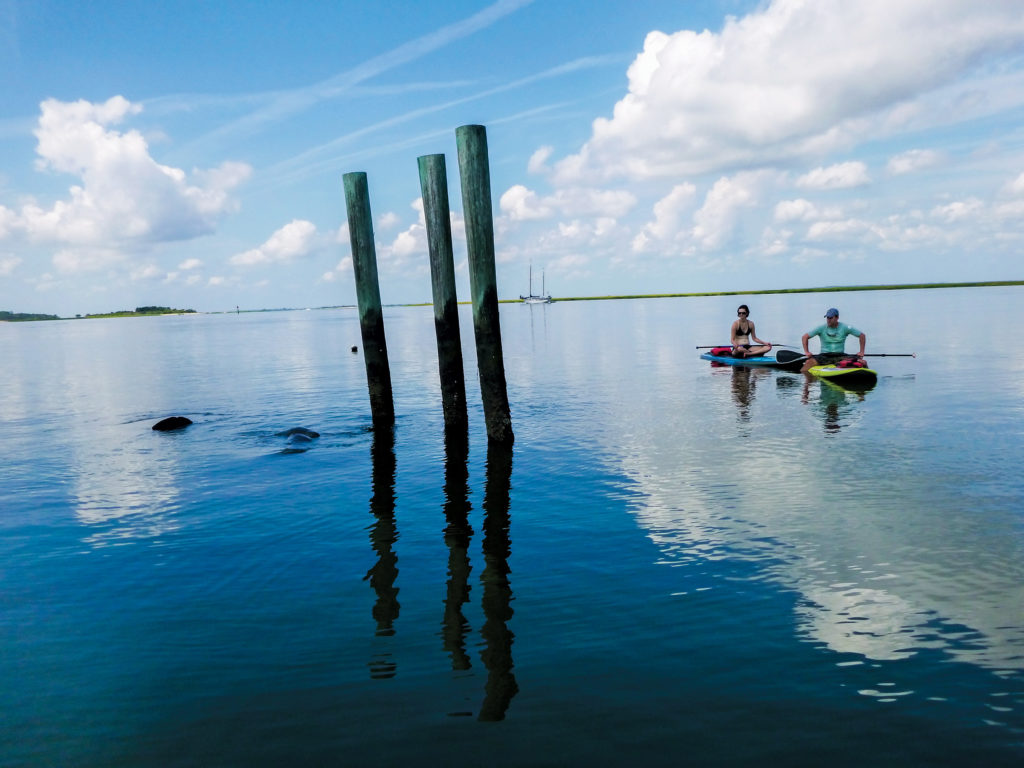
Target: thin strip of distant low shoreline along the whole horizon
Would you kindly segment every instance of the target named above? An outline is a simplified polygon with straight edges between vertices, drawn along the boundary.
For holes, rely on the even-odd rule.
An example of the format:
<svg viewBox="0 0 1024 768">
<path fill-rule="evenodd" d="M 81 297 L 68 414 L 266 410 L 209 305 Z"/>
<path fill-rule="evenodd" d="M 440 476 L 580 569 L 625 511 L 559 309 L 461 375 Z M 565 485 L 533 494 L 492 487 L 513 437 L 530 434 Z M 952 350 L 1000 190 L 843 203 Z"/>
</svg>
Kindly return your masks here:
<svg viewBox="0 0 1024 768">
<path fill-rule="evenodd" d="M 843 293 L 847 291 L 918 291 L 929 288 L 992 288 L 1006 286 L 1024 286 L 1024 280 L 995 280 L 983 283 L 907 283 L 893 286 L 821 286 L 818 288 L 763 288 L 752 291 L 698 291 L 693 293 L 649 293 L 649 294 L 623 294 L 621 296 L 563 296 L 552 297 L 551 303 L 559 301 L 613 301 L 618 299 L 686 299 L 699 298 L 701 296 L 757 296 L 763 294 L 778 293 Z M 522 299 L 499 299 L 500 304 L 522 304 Z M 460 304 L 471 304 L 470 301 L 460 301 Z M 384 306 L 432 306 L 430 302 L 419 302 L 411 304 L 385 304 Z M 336 304 L 334 306 L 319 307 L 281 307 L 280 309 L 221 309 L 209 312 L 197 312 L 194 309 L 170 309 L 161 312 L 109 312 L 104 314 L 87 314 L 78 317 L 60 317 L 58 315 L 17 315 L 14 312 L 0 312 L 0 323 L 34 323 L 50 319 L 93 319 L 97 317 L 153 317 L 164 314 L 236 314 L 247 312 L 294 312 L 307 309 L 357 309 L 352 304 Z M 2 315 L 8 315 L 3 317 Z"/>
</svg>

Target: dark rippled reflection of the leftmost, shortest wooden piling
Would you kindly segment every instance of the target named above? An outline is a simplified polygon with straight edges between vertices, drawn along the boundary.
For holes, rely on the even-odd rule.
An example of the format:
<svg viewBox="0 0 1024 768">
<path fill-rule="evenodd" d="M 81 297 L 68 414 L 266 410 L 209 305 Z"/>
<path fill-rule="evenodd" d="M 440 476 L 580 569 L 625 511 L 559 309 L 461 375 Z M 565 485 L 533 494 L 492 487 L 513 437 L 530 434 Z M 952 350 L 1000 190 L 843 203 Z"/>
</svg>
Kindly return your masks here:
<svg viewBox="0 0 1024 768">
<path fill-rule="evenodd" d="M 378 638 L 394 635 L 394 623 L 398 618 L 398 588 L 394 586 L 398 577 L 398 555 L 394 544 L 398 540 L 398 529 L 394 519 L 394 429 L 379 427 L 374 431 L 370 447 L 373 463 L 373 494 L 370 497 L 370 513 L 374 522 L 370 525 L 370 544 L 377 553 L 377 562 L 364 581 L 377 593 L 373 616 L 377 622 Z M 370 677 L 394 677 L 396 665 L 392 654 L 379 649 L 370 662 Z"/>
</svg>

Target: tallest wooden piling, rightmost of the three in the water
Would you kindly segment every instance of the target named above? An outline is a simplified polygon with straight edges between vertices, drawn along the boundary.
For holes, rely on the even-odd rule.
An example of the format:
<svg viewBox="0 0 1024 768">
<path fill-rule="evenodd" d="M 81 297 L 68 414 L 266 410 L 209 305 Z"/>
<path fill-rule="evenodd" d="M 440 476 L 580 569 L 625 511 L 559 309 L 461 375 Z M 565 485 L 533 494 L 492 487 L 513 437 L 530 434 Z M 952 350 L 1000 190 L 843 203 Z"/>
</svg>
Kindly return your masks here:
<svg viewBox="0 0 1024 768">
<path fill-rule="evenodd" d="M 505 385 L 502 332 L 498 321 L 498 278 L 495 273 L 495 222 L 490 208 L 487 134 L 482 125 L 456 129 L 462 205 L 469 251 L 469 286 L 473 298 L 473 330 L 480 372 L 480 394 L 487 439 L 511 443 L 512 416 Z"/>
</svg>

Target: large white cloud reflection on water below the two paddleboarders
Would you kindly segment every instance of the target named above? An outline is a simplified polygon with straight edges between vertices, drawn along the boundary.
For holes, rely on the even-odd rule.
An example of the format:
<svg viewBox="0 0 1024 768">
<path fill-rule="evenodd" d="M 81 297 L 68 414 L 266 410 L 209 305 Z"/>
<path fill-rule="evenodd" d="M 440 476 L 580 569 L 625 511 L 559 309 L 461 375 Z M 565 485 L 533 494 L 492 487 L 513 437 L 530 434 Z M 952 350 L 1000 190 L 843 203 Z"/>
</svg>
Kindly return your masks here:
<svg viewBox="0 0 1024 768">
<path fill-rule="evenodd" d="M 826 438 L 828 424 L 846 431 L 856 421 L 857 396 L 840 394 Z M 987 669 L 1024 669 L 1024 567 L 1013 539 L 984 528 L 1012 527 L 1009 510 L 987 509 L 982 523 L 948 483 L 922 477 L 915 459 L 869 445 L 868 466 L 859 450 L 844 458 L 808 438 L 754 432 L 737 454 L 709 441 L 695 451 L 672 422 L 648 427 L 650 440 L 631 441 L 622 461 L 646 496 L 637 519 L 666 562 L 757 562 L 801 595 L 797 634 L 839 653 L 883 660 L 941 648 Z M 835 462 L 848 466 L 819 474 Z M 741 471 L 702 471 L 709 463 Z"/>
</svg>

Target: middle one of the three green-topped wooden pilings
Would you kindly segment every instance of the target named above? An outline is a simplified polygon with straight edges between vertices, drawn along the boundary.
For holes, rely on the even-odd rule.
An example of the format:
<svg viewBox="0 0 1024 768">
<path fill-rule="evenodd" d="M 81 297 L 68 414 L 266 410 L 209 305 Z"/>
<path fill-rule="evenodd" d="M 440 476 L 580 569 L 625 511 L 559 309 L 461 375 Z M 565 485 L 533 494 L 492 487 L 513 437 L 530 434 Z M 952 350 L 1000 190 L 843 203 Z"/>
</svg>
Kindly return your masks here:
<svg viewBox="0 0 1024 768">
<path fill-rule="evenodd" d="M 466 376 L 462 366 L 459 303 L 455 290 L 447 170 L 443 155 L 424 155 L 417 162 L 430 251 L 430 287 L 434 299 L 434 331 L 437 335 L 437 368 L 441 380 L 444 428 L 465 430 Z"/>
</svg>

